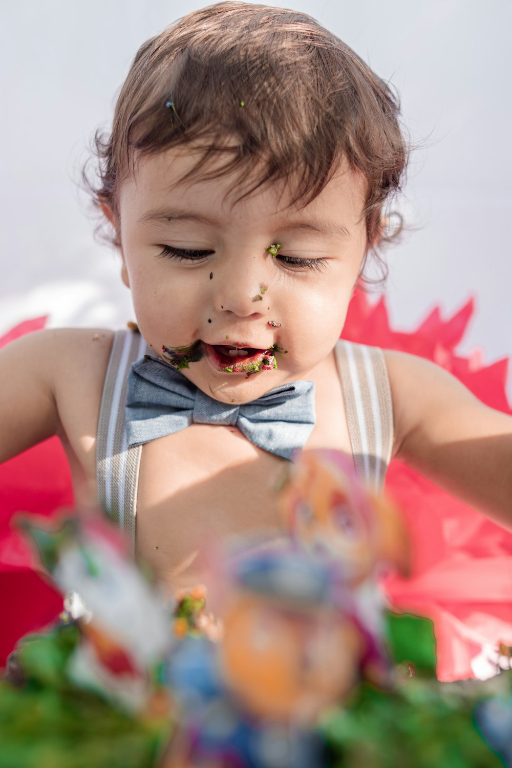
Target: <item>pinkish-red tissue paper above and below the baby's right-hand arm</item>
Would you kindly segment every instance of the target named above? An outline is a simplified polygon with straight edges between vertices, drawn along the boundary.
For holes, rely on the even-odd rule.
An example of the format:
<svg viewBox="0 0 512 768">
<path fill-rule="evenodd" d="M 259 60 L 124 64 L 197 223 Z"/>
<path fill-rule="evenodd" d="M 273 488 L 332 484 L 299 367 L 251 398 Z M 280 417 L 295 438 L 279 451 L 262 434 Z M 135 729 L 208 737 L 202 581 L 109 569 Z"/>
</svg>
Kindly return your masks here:
<svg viewBox="0 0 512 768">
<path fill-rule="evenodd" d="M 487 406 L 512 414 L 508 359 L 487 366 L 479 349 L 455 353 L 473 313 L 474 299 L 447 320 L 435 307 L 418 329 L 399 333 L 390 328 L 385 299 L 372 304 L 358 291 L 342 337 L 429 359 Z M 434 622 L 439 680 L 490 676 L 500 642 L 512 644 L 512 532 L 398 461 L 388 468 L 385 490 L 405 515 L 412 548 L 411 578 L 382 581 L 391 609 Z"/>
</svg>

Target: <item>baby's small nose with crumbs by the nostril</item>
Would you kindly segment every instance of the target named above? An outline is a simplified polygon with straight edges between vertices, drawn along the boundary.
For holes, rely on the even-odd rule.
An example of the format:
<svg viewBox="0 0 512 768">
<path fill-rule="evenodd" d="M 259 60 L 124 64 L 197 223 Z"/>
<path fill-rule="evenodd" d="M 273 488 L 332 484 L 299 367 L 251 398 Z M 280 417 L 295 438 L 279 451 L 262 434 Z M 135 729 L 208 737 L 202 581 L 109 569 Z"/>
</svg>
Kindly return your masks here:
<svg viewBox="0 0 512 768">
<path fill-rule="evenodd" d="M 253 319 L 263 317 L 269 306 L 264 273 L 264 263 L 253 255 L 235 253 L 226 258 L 212 286 L 216 312 L 231 312 L 238 317 Z"/>
</svg>

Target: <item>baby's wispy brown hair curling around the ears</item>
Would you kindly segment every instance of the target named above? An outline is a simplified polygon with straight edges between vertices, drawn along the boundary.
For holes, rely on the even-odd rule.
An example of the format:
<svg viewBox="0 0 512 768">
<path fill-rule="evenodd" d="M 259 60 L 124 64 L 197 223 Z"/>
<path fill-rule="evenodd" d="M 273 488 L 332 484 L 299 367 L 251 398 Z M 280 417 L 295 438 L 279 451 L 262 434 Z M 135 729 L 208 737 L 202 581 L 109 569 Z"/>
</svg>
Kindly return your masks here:
<svg viewBox="0 0 512 768">
<path fill-rule="evenodd" d="M 167 106 L 166 106 L 167 104 Z M 368 252 L 403 229 L 386 226 L 383 204 L 401 190 L 411 145 L 399 122 L 400 102 L 339 38 L 306 14 L 220 2 L 180 18 L 137 51 L 121 88 L 111 134 L 94 134 L 99 184 L 82 180 L 95 210 L 107 204 L 119 220 L 118 193 L 134 164 L 201 140 L 205 149 L 187 177 L 219 177 L 239 170 L 260 173 L 246 197 L 263 184 L 298 177 L 292 202 L 306 205 L 335 173 L 342 157 L 367 181 L 362 216 Z M 235 135 L 238 144 L 223 144 Z M 207 170 L 224 153 L 226 163 Z M 96 180 L 98 181 L 98 179 Z M 388 203 L 387 203 L 388 204 Z M 95 230 L 102 228 L 105 221 Z M 104 240 L 115 247 L 117 233 Z"/>
</svg>

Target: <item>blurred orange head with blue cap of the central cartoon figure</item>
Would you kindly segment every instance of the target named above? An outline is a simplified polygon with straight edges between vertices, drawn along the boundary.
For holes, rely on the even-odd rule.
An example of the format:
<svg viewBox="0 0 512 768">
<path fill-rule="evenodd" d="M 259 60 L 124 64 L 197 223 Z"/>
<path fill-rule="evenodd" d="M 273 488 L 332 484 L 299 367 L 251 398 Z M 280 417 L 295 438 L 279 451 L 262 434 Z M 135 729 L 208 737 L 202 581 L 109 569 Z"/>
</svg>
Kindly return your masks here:
<svg viewBox="0 0 512 768">
<path fill-rule="evenodd" d="M 292 547 L 240 562 L 224 614 L 226 685 L 258 717 L 312 723 L 355 686 L 365 633 L 332 563 Z"/>
</svg>

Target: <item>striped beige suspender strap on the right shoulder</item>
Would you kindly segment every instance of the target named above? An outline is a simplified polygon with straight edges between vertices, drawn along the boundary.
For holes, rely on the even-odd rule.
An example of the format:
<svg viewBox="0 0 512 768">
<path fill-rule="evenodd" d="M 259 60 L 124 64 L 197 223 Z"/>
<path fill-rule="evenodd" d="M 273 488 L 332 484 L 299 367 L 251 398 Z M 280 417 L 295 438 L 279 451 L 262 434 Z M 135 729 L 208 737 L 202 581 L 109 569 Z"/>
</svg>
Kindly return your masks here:
<svg viewBox="0 0 512 768">
<path fill-rule="evenodd" d="M 335 346 L 358 477 L 382 494 L 393 449 L 393 402 L 384 353 L 340 339 Z"/>
</svg>

